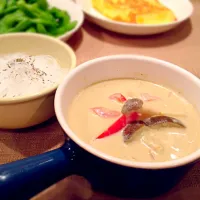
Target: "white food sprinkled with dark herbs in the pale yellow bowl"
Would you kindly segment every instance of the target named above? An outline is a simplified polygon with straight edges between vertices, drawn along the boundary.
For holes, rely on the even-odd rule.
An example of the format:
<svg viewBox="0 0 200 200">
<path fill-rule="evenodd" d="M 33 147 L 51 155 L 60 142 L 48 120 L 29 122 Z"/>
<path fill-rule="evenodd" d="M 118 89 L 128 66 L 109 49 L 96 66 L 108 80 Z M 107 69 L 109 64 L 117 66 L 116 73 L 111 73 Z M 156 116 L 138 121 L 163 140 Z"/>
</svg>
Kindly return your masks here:
<svg viewBox="0 0 200 200">
<path fill-rule="evenodd" d="M 49 55 L 13 53 L 0 56 L 0 98 L 35 95 L 57 85 L 63 69 Z"/>
</svg>

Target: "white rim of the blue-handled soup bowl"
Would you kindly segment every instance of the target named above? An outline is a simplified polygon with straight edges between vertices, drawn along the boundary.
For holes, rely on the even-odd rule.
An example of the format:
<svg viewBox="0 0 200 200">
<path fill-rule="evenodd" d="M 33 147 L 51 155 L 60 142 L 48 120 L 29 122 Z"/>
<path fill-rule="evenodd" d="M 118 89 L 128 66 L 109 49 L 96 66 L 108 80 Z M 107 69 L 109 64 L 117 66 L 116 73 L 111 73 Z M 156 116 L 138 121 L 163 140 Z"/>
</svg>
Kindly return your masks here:
<svg viewBox="0 0 200 200">
<path fill-rule="evenodd" d="M 65 134 L 67 134 L 76 144 L 78 144 L 81 148 L 85 149 L 89 153 L 91 153 L 103 160 L 106 160 L 106 161 L 109 161 L 109 162 L 112 162 L 112 163 L 115 163 L 118 165 L 126 166 L 126 167 L 152 169 L 152 170 L 167 169 L 167 168 L 175 168 L 175 167 L 183 166 L 183 165 L 186 165 L 186 164 L 189 164 L 189 163 L 192 163 L 192 162 L 198 160 L 200 158 L 200 149 L 198 149 L 197 151 L 195 151 L 195 152 L 191 153 L 190 155 L 185 156 L 183 158 L 172 160 L 172 161 L 166 161 L 166 162 L 152 163 L 152 162 L 138 162 L 138 161 L 124 160 L 124 159 L 120 159 L 120 158 L 116 158 L 116 157 L 107 155 L 107 154 L 93 148 L 89 144 L 85 143 L 83 140 L 79 139 L 79 137 L 75 133 L 73 133 L 73 131 L 68 126 L 68 124 L 62 114 L 62 108 L 60 106 L 60 102 L 62 99 L 62 93 L 64 92 L 65 85 L 71 79 L 73 79 L 73 77 L 75 77 L 77 73 L 79 73 L 84 68 L 89 68 L 89 67 L 91 67 L 91 65 L 98 63 L 100 61 L 115 60 L 115 59 L 140 59 L 140 60 L 148 60 L 150 62 L 155 62 L 155 63 L 161 64 L 161 65 L 165 65 L 165 67 L 167 67 L 167 68 L 173 68 L 174 70 L 178 71 L 180 74 L 188 76 L 191 80 L 193 80 L 193 82 L 198 84 L 200 87 L 200 80 L 195 75 L 193 75 L 191 72 L 189 72 L 175 64 L 172 64 L 170 62 L 160 60 L 157 58 L 153 58 L 153 57 L 149 57 L 149 56 L 142 56 L 142 55 L 136 55 L 136 54 L 132 54 L 132 55 L 120 54 L 120 55 L 104 56 L 104 57 L 96 58 L 93 60 L 89 60 L 85 63 L 80 64 L 77 68 L 72 70 L 66 76 L 63 83 L 58 87 L 58 89 L 56 91 L 55 102 L 54 102 L 55 113 L 56 113 L 56 117 L 57 117 L 61 127 L 65 131 Z"/>
</svg>

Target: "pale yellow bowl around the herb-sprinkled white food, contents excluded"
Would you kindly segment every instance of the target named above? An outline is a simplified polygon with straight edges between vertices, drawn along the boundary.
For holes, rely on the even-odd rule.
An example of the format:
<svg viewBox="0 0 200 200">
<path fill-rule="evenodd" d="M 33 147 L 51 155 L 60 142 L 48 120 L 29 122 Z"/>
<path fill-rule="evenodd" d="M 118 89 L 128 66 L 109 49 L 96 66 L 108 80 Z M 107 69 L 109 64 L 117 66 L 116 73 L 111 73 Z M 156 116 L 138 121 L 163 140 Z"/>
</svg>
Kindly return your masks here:
<svg viewBox="0 0 200 200">
<path fill-rule="evenodd" d="M 66 69 L 64 75 L 76 67 L 74 51 L 64 42 L 50 36 L 35 33 L 2 34 L 0 44 L 0 55 L 26 53 L 53 56 Z M 54 94 L 59 83 L 36 94 L 0 98 L 0 128 L 27 128 L 51 118 L 55 114 Z"/>
</svg>

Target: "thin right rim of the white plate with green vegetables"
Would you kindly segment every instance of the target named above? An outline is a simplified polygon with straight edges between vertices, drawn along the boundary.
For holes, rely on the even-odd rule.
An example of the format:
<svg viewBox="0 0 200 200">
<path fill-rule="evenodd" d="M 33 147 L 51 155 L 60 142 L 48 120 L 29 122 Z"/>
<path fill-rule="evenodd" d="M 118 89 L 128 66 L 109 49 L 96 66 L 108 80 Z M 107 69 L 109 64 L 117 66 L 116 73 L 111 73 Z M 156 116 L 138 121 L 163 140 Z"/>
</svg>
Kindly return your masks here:
<svg viewBox="0 0 200 200">
<path fill-rule="evenodd" d="M 74 3 L 72 0 L 70 1 L 70 3 L 74 4 L 73 6 L 76 6 L 80 10 L 80 20 L 77 21 L 77 25 L 74 29 L 58 36 L 57 38 L 60 40 L 65 40 L 65 38 L 74 35 L 74 33 L 76 33 L 81 28 L 81 26 L 83 25 L 84 19 L 85 19 L 85 16 L 84 16 L 84 13 L 83 13 L 83 10 L 81 9 L 81 7 L 78 4 Z"/>
</svg>

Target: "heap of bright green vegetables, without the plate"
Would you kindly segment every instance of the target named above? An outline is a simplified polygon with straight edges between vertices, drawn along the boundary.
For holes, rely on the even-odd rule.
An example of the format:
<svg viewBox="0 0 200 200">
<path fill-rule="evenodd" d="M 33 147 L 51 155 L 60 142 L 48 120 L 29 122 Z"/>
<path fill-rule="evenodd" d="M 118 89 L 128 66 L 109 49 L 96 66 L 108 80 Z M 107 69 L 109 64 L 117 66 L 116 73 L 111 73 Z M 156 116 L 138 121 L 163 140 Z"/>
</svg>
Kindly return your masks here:
<svg viewBox="0 0 200 200">
<path fill-rule="evenodd" d="M 47 0 L 1 0 L 0 34 L 32 32 L 60 36 L 74 29 L 69 13 L 50 7 Z"/>
</svg>

